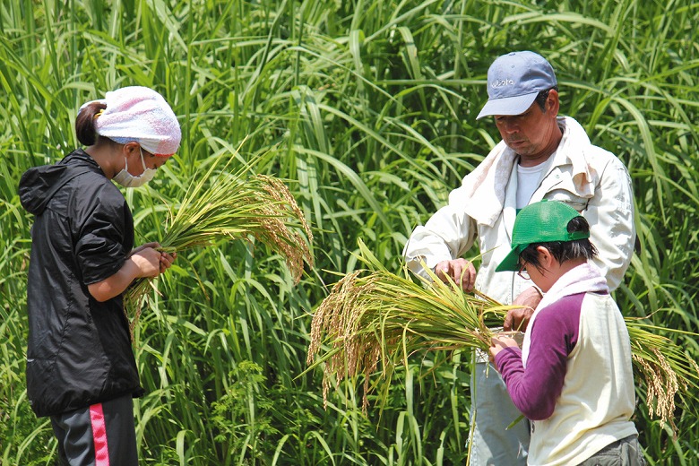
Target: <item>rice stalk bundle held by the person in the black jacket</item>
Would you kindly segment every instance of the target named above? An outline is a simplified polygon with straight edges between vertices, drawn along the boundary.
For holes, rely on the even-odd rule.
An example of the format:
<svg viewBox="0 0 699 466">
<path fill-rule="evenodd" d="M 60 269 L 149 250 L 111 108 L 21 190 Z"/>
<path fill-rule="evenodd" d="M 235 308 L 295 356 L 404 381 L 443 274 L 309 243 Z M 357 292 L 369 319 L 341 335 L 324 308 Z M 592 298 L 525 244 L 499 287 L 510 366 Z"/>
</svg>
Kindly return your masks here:
<svg viewBox="0 0 699 466">
<path fill-rule="evenodd" d="M 313 266 L 313 233 L 289 188 L 275 177 L 251 174 L 255 161 L 229 173 L 234 156 L 223 153 L 200 181 L 190 186 L 174 212 L 160 246 L 168 252 L 212 246 L 220 241 L 259 241 L 284 257 L 296 283 L 304 263 Z M 306 237 L 301 235 L 302 230 Z M 127 315 L 141 313 L 151 280 L 137 280 L 125 296 Z"/>
</svg>

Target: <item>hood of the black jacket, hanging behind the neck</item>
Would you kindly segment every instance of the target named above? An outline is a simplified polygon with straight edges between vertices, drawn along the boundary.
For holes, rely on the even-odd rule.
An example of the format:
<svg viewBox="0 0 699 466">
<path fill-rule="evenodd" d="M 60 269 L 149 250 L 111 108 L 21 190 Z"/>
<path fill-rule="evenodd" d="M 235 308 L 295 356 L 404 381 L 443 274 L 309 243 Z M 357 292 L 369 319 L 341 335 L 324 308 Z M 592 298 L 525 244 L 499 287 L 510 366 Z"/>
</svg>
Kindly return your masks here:
<svg viewBox="0 0 699 466">
<path fill-rule="evenodd" d="M 68 161 L 72 163 L 69 165 Z M 30 168 L 20 179 L 20 202 L 22 207 L 34 215 L 41 214 L 56 194 L 68 181 L 82 173 L 102 169 L 87 152 L 78 149 L 55 165 Z"/>
</svg>

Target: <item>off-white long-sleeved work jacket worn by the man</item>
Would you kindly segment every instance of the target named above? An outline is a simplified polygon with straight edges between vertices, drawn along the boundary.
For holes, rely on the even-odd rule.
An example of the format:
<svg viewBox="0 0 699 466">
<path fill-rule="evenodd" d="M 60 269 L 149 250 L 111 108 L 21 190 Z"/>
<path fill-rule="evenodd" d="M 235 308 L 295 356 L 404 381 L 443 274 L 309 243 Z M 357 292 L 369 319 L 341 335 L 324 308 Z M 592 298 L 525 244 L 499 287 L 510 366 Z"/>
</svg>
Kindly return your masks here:
<svg viewBox="0 0 699 466">
<path fill-rule="evenodd" d="M 624 164 L 609 151 L 591 144 L 582 126 L 569 116 L 558 118 L 563 137 L 545 176 L 531 195 L 567 203 L 590 223 L 591 242 L 599 251 L 595 263 L 616 289 L 634 251 L 634 198 Z M 424 226 L 413 230 L 403 249 L 412 272 L 427 278 L 420 261 L 434 268 L 469 251 L 478 240 L 481 264 L 476 289 L 511 304 L 531 287 L 515 272 L 495 272 L 511 249 L 517 212 L 517 156 L 500 142 L 488 157 L 449 194 L 449 203 Z"/>
</svg>

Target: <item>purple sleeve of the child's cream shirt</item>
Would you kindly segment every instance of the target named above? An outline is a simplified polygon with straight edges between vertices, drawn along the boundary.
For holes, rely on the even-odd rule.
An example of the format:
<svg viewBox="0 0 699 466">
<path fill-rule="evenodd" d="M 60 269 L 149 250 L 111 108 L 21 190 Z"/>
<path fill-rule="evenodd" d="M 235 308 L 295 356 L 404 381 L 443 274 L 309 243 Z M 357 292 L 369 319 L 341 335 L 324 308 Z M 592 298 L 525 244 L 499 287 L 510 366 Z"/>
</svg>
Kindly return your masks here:
<svg viewBox="0 0 699 466">
<path fill-rule="evenodd" d="M 567 296 L 541 309 L 531 326 L 526 369 L 519 348 L 502 350 L 495 358 L 514 405 L 527 419 L 543 420 L 553 414 L 563 390 L 568 355 L 578 341 L 584 296 Z"/>
</svg>

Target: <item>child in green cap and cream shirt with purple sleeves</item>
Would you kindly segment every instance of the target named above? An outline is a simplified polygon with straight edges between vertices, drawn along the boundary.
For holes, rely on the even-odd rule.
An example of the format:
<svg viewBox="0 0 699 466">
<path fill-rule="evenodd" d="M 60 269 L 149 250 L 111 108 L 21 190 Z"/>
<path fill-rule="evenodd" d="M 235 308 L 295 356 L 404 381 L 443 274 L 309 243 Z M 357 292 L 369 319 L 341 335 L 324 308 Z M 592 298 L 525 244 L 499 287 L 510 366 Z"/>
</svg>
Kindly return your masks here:
<svg viewBox="0 0 699 466">
<path fill-rule="evenodd" d="M 491 361 L 531 421 L 528 463 L 643 465 L 626 324 L 591 262 L 590 227 L 564 203 L 533 203 L 514 223 L 497 272 L 525 275 L 544 292 L 522 349 L 493 338 Z"/>
</svg>

